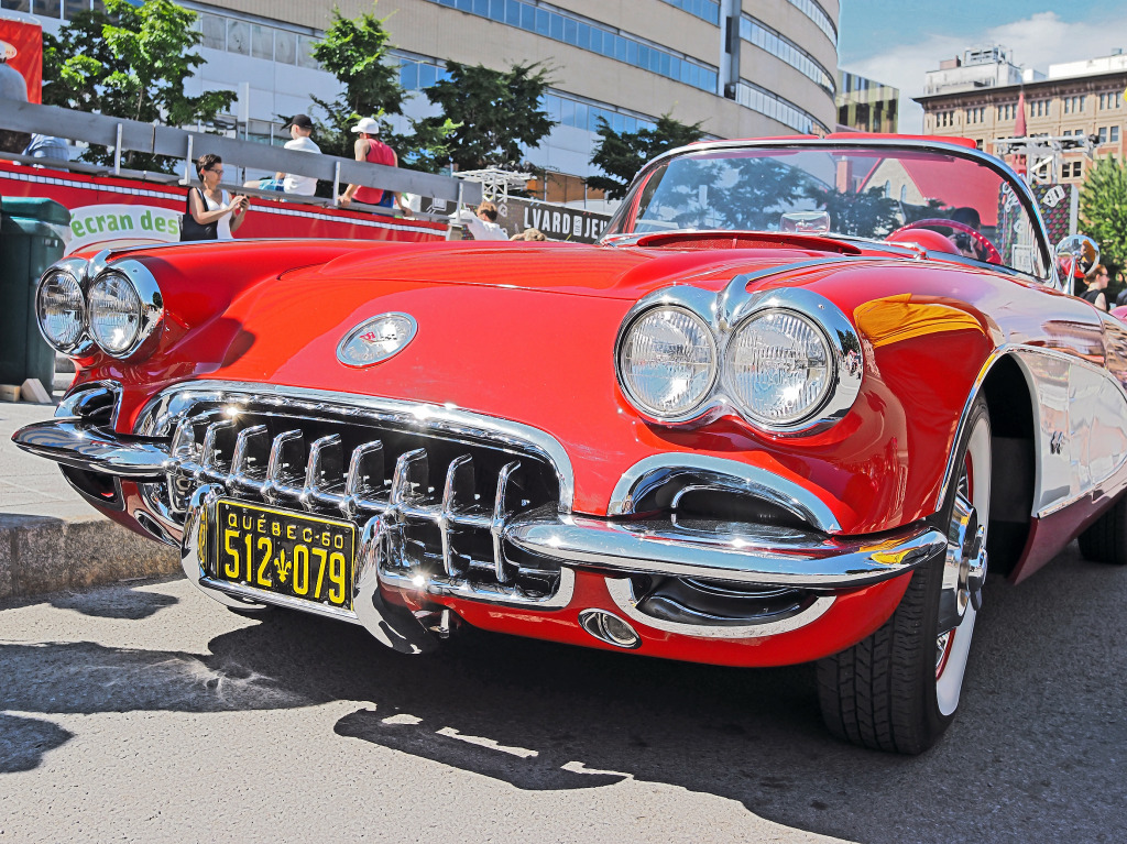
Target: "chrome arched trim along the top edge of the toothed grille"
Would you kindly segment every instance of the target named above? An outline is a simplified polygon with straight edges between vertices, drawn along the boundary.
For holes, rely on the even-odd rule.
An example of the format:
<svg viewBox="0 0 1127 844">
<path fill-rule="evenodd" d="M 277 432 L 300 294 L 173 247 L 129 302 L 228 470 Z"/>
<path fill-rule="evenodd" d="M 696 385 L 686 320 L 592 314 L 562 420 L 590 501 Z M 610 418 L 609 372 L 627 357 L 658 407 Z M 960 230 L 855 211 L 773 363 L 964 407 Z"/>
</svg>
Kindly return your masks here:
<svg viewBox="0 0 1127 844">
<path fill-rule="evenodd" d="M 161 391 L 145 405 L 137 417 L 136 433 L 142 436 L 167 436 L 176 421 L 197 400 L 234 406 L 240 401 L 260 400 L 276 403 L 291 412 L 316 414 L 318 410 L 332 409 L 344 416 L 355 414 L 376 423 L 429 428 L 451 438 L 468 436 L 494 445 L 508 444 L 515 451 L 538 454 L 553 468 L 560 485 L 561 513 L 570 513 L 575 500 L 571 460 L 554 437 L 529 425 L 455 407 L 277 384 L 187 381 Z"/>
</svg>

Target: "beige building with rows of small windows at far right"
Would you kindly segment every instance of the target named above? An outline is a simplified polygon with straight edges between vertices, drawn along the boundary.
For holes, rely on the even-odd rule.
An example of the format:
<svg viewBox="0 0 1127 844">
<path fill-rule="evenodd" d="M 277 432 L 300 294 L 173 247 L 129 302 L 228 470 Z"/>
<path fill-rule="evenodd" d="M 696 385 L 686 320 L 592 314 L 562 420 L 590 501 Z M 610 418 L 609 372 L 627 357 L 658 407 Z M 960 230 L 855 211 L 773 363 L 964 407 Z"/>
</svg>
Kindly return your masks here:
<svg viewBox="0 0 1127 844">
<path fill-rule="evenodd" d="M 930 74 L 929 74 L 930 75 Z M 930 135 L 969 137 L 988 152 L 993 141 L 1013 137 L 1018 101 L 1024 94 L 1026 134 L 1086 135 L 1094 141 L 1097 158 L 1125 152 L 1124 89 L 1127 55 L 1117 53 L 1080 62 L 1049 65 L 1048 73 L 1023 70 L 1018 81 L 1008 73 L 999 85 L 962 85 L 931 90 L 916 97 L 924 109 L 924 132 Z M 1080 181 L 1091 166 L 1082 151 L 1066 152 L 1061 167 L 1064 181 Z"/>
</svg>

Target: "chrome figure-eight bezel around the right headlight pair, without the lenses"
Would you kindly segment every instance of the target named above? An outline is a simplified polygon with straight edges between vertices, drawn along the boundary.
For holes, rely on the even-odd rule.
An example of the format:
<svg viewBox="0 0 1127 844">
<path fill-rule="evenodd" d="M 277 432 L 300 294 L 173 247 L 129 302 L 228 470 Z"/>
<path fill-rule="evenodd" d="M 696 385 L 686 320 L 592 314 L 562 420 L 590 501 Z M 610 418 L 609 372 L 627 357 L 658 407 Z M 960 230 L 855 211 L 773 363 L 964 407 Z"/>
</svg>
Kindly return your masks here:
<svg viewBox="0 0 1127 844">
<path fill-rule="evenodd" d="M 615 341 L 615 375 L 619 385 L 648 421 L 671 426 L 699 426 L 720 416 L 738 416 L 747 425 L 771 436 L 805 436 L 816 434 L 841 421 L 853 407 L 861 391 L 864 370 L 863 350 L 857 329 L 845 314 L 825 296 L 804 287 L 775 287 L 748 292 L 752 276 L 737 276 L 719 293 L 676 285 L 655 291 L 635 304 Z M 656 417 L 639 408 L 623 385 L 620 353 L 625 331 L 638 316 L 658 306 L 682 308 L 691 311 L 712 332 L 717 349 L 717 376 L 708 394 L 689 412 L 676 417 Z M 751 321 L 772 313 L 789 314 L 802 320 L 818 332 L 827 349 L 827 385 L 816 400 L 792 418 L 773 420 L 758 414 L 754 407 L 739 400 L 729 365 L 731 347 L 739 332 Z"/>
</svg>

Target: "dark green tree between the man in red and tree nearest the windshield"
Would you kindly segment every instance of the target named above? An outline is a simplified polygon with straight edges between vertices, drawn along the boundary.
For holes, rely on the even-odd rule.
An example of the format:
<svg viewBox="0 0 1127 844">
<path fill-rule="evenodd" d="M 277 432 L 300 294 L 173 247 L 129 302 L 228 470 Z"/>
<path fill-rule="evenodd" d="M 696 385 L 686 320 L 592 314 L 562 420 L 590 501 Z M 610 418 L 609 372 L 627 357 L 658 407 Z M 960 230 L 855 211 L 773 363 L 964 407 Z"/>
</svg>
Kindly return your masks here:
<svg viewBox="0 0 1127 844">
<path fill-rule="evenodd" d="M 490 70 L 447 61 L 446 71 L 446 79 L 424 91 L 442 116 L 419 121 L 416 131 L 451 126 L 447 158 L 459 170 L 516 167 L 522 145 L 535 146 L 552 131 L 554 124 L 540 107 L 550 71 L 539 62 Z"/>
</svg>

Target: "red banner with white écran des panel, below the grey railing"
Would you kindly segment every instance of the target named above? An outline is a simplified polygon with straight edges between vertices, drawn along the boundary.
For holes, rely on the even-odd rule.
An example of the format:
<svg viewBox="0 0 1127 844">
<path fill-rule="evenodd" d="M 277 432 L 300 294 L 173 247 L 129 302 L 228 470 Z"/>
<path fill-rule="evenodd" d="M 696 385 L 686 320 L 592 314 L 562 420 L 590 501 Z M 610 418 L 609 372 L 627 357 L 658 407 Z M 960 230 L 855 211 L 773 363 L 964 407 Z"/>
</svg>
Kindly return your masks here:
<svg viewBox="0 0 1127 844">
<path fill-rule="evenodd" d="M 0 161 L 0 196 L 45 197 L 66 206 L 69 255 L 179 240 L 187 189 Z M 256 198 L 236 237 L 426 241 L 444 240 L 446 225 Z"/>
</svg>

